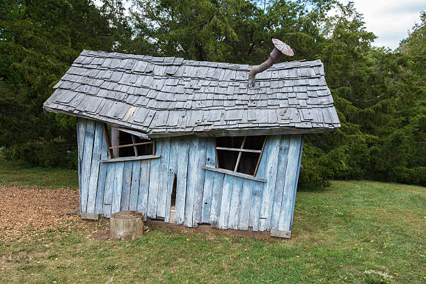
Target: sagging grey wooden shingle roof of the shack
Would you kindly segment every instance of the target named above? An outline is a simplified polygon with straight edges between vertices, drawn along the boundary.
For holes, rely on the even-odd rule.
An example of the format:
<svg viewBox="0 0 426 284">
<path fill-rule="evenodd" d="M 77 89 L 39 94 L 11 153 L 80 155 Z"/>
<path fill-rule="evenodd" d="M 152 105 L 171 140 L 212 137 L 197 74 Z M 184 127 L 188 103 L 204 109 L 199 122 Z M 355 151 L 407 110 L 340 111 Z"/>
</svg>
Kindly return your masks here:
<svg viewBox="0 0 426 284">
<path fill-rule="evenodd" d="M 247 88 L 250 68 L 85 50 L 43 108 L 153 136 L 340 127 L 321 61 L 276 63 L 257 75 L 255 88 Z"/>
</svg>

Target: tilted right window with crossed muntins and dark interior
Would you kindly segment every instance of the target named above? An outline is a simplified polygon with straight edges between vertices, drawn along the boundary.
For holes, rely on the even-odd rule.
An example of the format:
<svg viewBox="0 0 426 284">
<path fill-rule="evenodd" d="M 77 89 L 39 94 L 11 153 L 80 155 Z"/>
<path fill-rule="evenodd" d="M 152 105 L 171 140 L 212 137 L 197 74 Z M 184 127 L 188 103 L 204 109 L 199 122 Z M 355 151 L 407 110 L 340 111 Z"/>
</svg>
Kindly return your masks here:
<svg viewBox="0 0 426 284">
<path fill-rule="evenodd" d="M 266 136 L 234 136 L 216 138 L 216 167 L 255 176 Z"/>
</svg>

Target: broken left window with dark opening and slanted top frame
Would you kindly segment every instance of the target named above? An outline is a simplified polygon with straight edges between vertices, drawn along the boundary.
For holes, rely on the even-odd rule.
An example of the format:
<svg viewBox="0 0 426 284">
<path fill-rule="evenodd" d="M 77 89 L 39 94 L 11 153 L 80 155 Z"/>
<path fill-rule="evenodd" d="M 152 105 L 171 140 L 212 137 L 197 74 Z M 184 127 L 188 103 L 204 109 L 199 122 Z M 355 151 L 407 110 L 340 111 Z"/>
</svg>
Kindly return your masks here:
<svg viewBox="0 0 426 284">
<path fill-rule="evenodd" d="M 143 139 L 143 134 L 104 124 L 108 155 L 112 158 L 155 155 L 155 141 Z"/>
</svg>

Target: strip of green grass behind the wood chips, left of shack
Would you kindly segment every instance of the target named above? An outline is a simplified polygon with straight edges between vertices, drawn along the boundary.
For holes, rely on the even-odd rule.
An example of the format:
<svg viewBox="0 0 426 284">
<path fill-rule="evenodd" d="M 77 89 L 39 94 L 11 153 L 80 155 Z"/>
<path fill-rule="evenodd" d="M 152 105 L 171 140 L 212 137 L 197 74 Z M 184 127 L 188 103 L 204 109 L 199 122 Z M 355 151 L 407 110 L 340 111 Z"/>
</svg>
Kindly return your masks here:
<svg viewBox="0 0 426 284">
<path fill-rule="evenodd" d="M 38 189 L 79 188 L 75 170 L 63 168 L 29 168 L 17 161 L 7 161 L 0 155 L 0 184 Z"/>
</svg>

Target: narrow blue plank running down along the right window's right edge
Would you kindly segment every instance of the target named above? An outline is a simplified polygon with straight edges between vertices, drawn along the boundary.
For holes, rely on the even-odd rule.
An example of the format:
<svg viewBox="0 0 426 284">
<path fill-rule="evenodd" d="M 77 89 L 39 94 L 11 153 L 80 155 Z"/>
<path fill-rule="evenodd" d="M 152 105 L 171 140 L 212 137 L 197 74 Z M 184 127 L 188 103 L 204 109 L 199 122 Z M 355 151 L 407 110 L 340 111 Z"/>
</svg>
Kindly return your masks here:
<svg viewBox="0 0 426 284">
<path fill-rule="evenodd" d="M 267 137 L 265 148 L 263 149 L 262 157 L 260 158 L 260 164 L 258 168 L 258 173 L 256 174 L 257 178 L 266 179 L 266 168 L 268 163 L 269 148 L 271 145 L 272 139 L 270 136 Z M 253 231 L 259 230 L 260 225 L 260 205 L 262 204 L 262 194 L 263 194 L 263 182 L 255 182 L 254 188 L 251 196 L 251 207 L 250 207 L 250 218 L 248 219 L 248 226 L 253 229 Z"/>
</svg>

